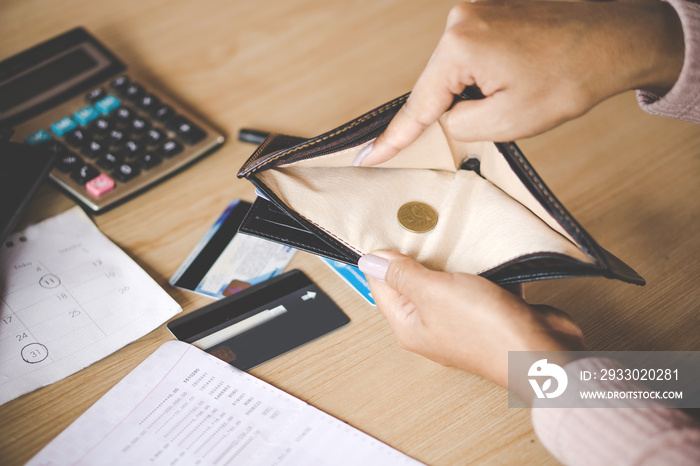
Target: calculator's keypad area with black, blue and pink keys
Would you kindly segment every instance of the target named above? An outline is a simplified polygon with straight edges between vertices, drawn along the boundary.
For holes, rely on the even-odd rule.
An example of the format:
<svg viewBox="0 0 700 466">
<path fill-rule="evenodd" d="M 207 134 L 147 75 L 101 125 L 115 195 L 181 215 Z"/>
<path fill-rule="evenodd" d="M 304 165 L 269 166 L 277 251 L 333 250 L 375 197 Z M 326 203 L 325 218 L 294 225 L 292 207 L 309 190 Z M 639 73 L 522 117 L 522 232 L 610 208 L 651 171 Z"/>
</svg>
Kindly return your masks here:
<svg viewBox="0 0 700 466">
<path fill-rule="evenodd" d="M 165 160 L 190 156 L 188 147 L 207 136 L 143 85 L 119 76 L 87 92 L 83 107 L 30 134 L 25 142 L 47 144 L 57 153 L 55 168 L 97 200 Z"/>
</svg>

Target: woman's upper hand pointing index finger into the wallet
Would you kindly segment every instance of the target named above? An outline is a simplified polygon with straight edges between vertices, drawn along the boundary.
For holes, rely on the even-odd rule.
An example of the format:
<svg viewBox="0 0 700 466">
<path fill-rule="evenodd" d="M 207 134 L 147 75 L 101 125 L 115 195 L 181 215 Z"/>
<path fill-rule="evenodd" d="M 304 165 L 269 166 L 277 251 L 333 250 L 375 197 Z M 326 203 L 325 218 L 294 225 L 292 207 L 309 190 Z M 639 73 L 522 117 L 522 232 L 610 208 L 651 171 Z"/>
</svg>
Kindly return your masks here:
<svg viewBox="0 0 700 466">
<path fill-rule="evenodd" d="M 665 94 L 683 53 L 680 20 L 657 0 L 459 4 L 408 101 L 355 165 L 377 165 L 408 147 L 466 86 L 485 98 L 449 110 L 449 135 L 510 141 L 629 89 Z"/>
</svg>

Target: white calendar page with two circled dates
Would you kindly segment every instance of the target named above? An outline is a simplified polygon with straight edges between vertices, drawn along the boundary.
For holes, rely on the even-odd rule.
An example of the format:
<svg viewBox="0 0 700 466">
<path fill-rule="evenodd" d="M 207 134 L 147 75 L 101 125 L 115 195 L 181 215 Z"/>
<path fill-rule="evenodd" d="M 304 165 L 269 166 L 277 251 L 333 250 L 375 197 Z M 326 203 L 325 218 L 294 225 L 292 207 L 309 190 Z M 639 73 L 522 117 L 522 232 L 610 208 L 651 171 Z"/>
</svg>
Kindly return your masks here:
<svg viewBox="0 0 700 466">
<path fill-rule="evenodd" d="M 0 404 L 149 333 L 180 306 L 75 207 L 0 245 Z"/>
</svg>

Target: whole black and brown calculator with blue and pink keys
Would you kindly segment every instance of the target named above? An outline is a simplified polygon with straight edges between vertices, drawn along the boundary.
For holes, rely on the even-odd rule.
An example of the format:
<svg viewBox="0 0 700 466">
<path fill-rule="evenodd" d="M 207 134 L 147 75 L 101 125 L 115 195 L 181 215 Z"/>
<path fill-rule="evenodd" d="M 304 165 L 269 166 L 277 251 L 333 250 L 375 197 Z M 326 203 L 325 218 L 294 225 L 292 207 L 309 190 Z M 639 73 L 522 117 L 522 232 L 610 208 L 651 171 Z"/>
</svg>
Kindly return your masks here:
<svg viewBox="0 0 700 466">
<path fill-rule="evenodd" d="M 54 153 L 49 177 L 96 213 L 224 142 L 83 28 L 0 62 L 0 130 L 8 128 Z"/>
</svg>

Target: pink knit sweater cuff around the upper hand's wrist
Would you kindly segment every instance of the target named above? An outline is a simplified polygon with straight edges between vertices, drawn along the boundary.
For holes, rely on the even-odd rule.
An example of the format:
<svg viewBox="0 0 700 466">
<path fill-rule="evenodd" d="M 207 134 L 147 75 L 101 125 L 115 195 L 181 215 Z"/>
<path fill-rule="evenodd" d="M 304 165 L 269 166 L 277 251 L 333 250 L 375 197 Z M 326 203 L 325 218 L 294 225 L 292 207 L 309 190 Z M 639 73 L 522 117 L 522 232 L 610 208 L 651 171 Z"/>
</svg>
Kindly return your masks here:
<svg viewBox="0 0 700 466">
<path fill-rule="evenodd" d="M 700 4 L 692 0 L 665 0 L 678 13 L 683 27 L 685 57 L 678 81 L 663 97 L 637 91 L 645 112 L 700 124 Z"/>
</svg>

